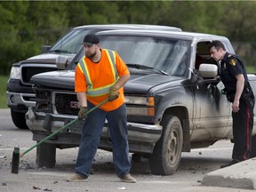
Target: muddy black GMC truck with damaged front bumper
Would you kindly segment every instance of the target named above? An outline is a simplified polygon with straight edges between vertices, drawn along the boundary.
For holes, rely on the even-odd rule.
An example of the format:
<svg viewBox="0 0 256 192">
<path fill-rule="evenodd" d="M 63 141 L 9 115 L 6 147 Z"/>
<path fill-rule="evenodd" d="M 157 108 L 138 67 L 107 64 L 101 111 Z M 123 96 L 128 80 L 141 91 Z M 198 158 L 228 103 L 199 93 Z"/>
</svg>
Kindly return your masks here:
<svg viewBox="0 0 256 192">
<path fill-rule="evenodd" d="M 220 40 L 228 52 L 234 52 L 228 38 L 160 30 L 98 34 L 100 46 L 118 52 L 131 72 L 124 86 L 130 152 L 148 157 L 153 174 L 175 172 L 181 152 L 232 139 L 230 103 L 220 93 L 219 81 L 213 79 L 218 63 L 211 60 L 207 48 L 212 40 Z M 74 69 L 83 55 L 84 48 L 66 70 L 32 76 L 36 108 L 28 109 L 26 119 L 33 140 L 44 139 L 77 117 Z M 256 76 L 248 76 L 256 92 Z M 82 124 L 78 121 L 38 146 L 37 165 L 52 167 L 56 148 L 77 147 Z M 108 122 L 99 148 L 112 149 Z"/>
</svg>

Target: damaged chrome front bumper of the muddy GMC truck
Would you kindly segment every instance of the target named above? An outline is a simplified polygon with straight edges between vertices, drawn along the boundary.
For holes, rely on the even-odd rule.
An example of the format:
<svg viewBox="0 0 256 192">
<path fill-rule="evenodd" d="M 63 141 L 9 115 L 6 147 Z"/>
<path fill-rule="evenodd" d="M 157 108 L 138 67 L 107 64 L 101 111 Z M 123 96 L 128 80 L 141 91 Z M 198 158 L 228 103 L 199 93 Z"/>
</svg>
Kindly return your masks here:
<svg viewBox="0 0 256 192">
<path fill-rule="evenodd" d="M 29 129 L 33 132 L 33 140 L 42 140 L 45 135 L 57 131 L 65 124 L 74 120 L 77 116 L 60 116 L 35 112 L 33 108 L 28 108 L 26 122 Z M 77 121 L 71 124 L 66 130 L 58 133 L 56 137 L 48 142 L 55 144 L 76 145 L 80 141 L 83 121 Z M 130 152 L 152 153 L 157 140 L 160 139 L 163 127 L 159 124 L 137 124 L 127 123 L 128 141 Z M 108 131 L 108 122 L 106 121 L 100 136 L 99 148 L 112 150 L 110 133 Z"/>
</svg>

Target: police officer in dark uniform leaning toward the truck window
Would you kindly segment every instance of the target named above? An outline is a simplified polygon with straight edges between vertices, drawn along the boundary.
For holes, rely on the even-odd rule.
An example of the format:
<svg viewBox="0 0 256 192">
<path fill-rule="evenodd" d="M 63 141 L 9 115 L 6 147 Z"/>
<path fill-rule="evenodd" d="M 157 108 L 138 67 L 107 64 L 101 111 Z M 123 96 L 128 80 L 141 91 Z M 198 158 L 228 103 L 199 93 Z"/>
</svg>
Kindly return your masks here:
<svg viewBox="0 0 256 192">
<path fill-rule="evenodd" d="M 220 78 L 232 103 L 234 147 L 232 161 L 220 166 L 224 168 L 250 158 L 255 100 L 243 61 L 220 41 L 212 41 L 208 48 L 211 58 L 220 61 Z"/>
</svg>

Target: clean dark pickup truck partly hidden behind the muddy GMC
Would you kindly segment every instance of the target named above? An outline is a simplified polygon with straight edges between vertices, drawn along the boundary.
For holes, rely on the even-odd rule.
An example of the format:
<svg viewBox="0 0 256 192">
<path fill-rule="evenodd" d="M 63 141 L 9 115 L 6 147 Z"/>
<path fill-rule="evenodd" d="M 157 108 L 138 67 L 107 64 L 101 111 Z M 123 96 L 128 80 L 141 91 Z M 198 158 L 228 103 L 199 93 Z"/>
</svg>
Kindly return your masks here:
<svg viewBox="0 0 256 192">
<path fill-rule="evenodd" d="M 53 44 L 52 47 L 44 45 L 43 54 L 12 64 L 6 92 L 7 105 L 11 108 L 12 122 L 20 129 L 28 129 L 25 114 L 29 107 L 36 106 L 36 95 L 32 90 L 32 84 L 29 82 L 31 76 L 58 70 L 56 60 L 61 55 L 66 56 L 65 61 L 68 64 L 81 48 L 81 42 L 88 33 L 128 28 L 181 31 L 180 28 L 175 27 L 140 24 L 85 25 L 72 28 L 56 44 Z"/>
</svg>

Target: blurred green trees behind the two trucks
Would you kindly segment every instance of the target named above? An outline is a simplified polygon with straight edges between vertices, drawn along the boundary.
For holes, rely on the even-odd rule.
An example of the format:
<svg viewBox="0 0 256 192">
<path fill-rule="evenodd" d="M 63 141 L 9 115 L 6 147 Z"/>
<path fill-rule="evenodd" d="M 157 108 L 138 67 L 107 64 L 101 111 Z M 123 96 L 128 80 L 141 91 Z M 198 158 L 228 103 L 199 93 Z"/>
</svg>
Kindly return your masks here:
<svg viewBox="0 0 256 192">
<path fill-rule="evenodd" d="M 0 74 L 13 62 L 41 52 L 69 28 L 88 24 L 134 23 L 228 36 L 255 62 L 256 13 L 253 1 L 2 1 Z M 250 44 L 249 44 L 250 43 Z M 251 60 L 251 59 L 250 59 Z"/>
</svg>

